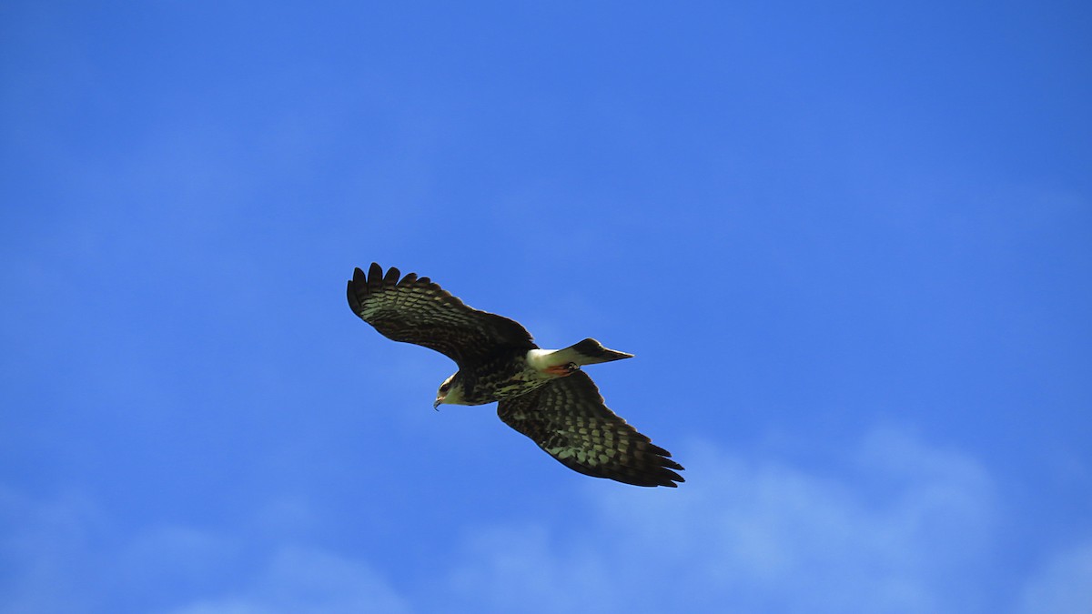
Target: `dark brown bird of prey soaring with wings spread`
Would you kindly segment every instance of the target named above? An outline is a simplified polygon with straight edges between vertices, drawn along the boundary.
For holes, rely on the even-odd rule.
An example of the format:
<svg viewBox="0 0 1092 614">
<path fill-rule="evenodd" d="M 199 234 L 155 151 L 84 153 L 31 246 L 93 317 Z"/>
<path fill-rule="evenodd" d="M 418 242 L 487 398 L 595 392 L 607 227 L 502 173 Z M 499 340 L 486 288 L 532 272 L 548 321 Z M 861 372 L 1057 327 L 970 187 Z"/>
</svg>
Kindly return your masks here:
<svg viewBox="0 0 1092 614">
<path fill-rule="evenodd" d="M 448 356 L 459 370 L 440 385 L 441 403 L 497 401 L 505 424 L 559 462 L 594 477 L 638 486 L 677 486 L 682 467 L 670 453 L 607 409 L 584 365 L 631 358 L 585 339 L 542 350 L 522 324 L 474 309 L 428 278 L 402 276 L 372 262 L 348 282 L 353 312 L 394 341 Z"/>
</svg>

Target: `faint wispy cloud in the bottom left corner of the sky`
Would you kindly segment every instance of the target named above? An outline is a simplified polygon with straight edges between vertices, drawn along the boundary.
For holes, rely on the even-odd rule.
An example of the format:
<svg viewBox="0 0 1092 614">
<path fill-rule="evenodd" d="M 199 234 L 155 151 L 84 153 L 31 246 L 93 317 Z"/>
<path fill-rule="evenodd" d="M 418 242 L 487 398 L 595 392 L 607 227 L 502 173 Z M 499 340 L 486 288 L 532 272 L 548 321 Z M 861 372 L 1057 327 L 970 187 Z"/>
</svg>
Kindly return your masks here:
<svg viewBox="0 0 1092 614">
<path fill-rule="evenodd" d="M 290 533 L 308 513 L 282 501 L 256 520 Z M 181 526 L 127 533 L 86 497 L 37 501 L 0 486 L 0 614 L 411 611 L 365 562 L 293 543 L 256 554 L 246 540 Z"/>
</svg>

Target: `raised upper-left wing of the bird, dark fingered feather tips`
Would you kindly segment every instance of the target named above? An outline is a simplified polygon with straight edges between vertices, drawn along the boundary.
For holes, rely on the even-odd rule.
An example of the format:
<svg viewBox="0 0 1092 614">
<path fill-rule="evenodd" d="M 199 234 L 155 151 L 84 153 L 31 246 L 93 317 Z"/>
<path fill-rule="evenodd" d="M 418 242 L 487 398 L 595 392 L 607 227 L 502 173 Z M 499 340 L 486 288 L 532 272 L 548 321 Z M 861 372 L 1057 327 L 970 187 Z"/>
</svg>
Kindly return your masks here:
<svg viewBox="0 0 1092 614">
<path fill-rule="evenodd" d="M 467 307 L 428 278 L 371 263 L 353 272 L 348 306 L 364 321 L 394 341 L 424 345 L 460 365 L 501 347 L 537 347 L 519 322 Z"/>
</svg>

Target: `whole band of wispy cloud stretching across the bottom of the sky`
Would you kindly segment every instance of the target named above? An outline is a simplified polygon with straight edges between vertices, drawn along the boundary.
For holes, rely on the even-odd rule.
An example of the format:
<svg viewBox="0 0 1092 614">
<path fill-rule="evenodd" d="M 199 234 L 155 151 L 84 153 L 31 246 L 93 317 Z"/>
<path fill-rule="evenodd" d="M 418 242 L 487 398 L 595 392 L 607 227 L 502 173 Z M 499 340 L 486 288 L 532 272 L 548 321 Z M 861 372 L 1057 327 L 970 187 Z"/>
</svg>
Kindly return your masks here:
<svg viewBox="0 0 1092 614">
<path fill-rule="evenodd" d="M 11 522 L 0 544 L 19 572 L 3 585 L 0 612 L 107 611 L 132 602 L 120 578 L 159 587 L 141 603 L 167 614 L 1030 614 L 1092 603 L 1089 544 L 998 588 L 1011 569 L 996 556 L 1007 507 L 995 480 L 975 459 L 901 429 L 863 437 L 836 454 L 836 469 L 709 444 L 680 451 L 689 469 L 677 491 L 587 481 L 583 497 L 563 504 L 567 516 L 464 524 L 461 539 L 415 566 L 427 577 L 384 565 L 378 552 L 335 553 L 306 531 L 161 527 L 100 546 L 95 535 L 110 523 L 87 501 L 3 492 Z M 114 569 L 97 570 L 103 562 Z"/>
</svg>

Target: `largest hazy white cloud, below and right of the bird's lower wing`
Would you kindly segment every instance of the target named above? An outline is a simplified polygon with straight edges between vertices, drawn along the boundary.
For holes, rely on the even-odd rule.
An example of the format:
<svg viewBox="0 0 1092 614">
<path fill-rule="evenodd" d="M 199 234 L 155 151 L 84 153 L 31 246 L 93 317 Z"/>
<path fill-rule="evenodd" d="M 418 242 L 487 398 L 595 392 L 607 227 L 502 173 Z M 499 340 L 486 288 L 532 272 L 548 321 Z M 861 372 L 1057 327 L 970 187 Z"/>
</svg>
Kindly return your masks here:
<svg viewBox="0 0 1092 614">
<path fill-rule="evenodd" d="M 678 491 L 591 484 L 575 532 L 483 531 L 450 583 L 492 612 L 982 610 L 969 588 L 994 495 L 973 460 L 895 432 L 869 436 L 848 479 L 708 446 L 687 458 Z"/>
</svg>

